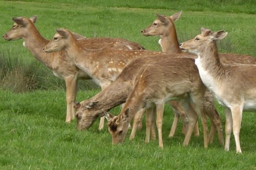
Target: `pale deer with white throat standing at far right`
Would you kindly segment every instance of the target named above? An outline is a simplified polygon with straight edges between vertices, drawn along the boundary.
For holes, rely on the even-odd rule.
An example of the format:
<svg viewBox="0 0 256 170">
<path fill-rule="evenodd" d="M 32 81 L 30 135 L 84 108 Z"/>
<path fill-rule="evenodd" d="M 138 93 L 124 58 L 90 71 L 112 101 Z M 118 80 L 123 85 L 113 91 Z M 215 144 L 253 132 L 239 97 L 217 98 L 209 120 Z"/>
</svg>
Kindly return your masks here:
<svg viewBox="0 0 256 170">
<path fill-rule="evenodd" d="M 198 57 L 195 64 L 205 86 L 225 107 L 225 150 L 229 151 L 231 132 L 236 141 L 236 152 L 241 154 L 240 129 L 243 110 L 256 109 L 256 65 L 224 64 L 217 47 L 217 41 L 225 38 L 227 32 L 212 32 L 201 28 L 201 34 L 180 44 L 180 47 Z"/>
</svg>

